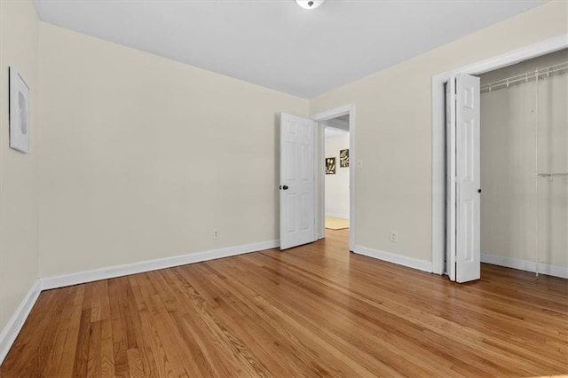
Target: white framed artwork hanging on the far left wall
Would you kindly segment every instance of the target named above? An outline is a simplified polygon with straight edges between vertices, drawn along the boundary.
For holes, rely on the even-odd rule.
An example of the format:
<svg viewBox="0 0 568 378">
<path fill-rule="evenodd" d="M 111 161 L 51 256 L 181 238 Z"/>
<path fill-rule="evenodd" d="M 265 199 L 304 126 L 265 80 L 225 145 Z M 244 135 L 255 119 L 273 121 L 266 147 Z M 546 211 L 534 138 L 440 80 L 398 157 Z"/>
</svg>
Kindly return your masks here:
<svg viewBox="0 0 568 378">
<path fill-rule="evenodd" d="M 10 146 L 29 153 L 29 87 L 13 67 L 10 73 Z"/>
</svg>

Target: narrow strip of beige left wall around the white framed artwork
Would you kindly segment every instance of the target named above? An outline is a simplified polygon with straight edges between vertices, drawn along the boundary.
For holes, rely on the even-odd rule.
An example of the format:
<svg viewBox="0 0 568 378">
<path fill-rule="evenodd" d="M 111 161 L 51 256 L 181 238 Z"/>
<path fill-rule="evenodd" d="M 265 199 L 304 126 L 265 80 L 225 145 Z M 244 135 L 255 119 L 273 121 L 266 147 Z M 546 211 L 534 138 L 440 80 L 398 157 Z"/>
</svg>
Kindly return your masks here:
<svg viewBox="0 0 568 378">
<path fill-rule="evenodd" d="M 0 331 L 38 277 L 38 23 L 31 2 L 0 2 Z M 8 67 L 15 67 L 30 87 L 29 154 L 9 146 Z"/>
</svg>

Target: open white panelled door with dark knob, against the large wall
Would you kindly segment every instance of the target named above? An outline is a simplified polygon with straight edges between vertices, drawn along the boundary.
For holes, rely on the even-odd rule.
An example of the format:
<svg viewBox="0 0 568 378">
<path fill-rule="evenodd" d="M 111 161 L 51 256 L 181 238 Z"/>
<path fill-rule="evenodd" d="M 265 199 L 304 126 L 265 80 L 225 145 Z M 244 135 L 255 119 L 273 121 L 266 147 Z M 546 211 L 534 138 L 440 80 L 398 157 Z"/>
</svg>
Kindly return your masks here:
<svg viewBox="0 0 568 378">
<path fill-rule="evenodd" d="M 312 120 L 280 115 L 280 249 L 316 240 L 315 136 Z"/>
</svg>

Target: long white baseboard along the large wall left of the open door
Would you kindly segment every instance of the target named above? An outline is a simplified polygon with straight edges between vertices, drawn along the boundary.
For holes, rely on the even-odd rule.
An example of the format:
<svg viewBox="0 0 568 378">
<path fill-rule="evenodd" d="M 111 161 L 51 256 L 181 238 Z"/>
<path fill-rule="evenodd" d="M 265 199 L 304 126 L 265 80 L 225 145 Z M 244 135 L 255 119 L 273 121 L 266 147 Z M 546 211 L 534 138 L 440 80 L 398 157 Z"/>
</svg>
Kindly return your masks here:
<svg viewBox="0 0 568 378">
<path fill-rule="evenodd" d="M 164 257 L 155 260 L 146 260 L 132 264 L 122 264 L 108 266 L 106 268 L 65 274 L 57 277 L 49 277 L 41 280 L 42 290 L 57 287 L 66 287 L 82 284 L 97 280 L 113 279 L 129 274 L 156 271 L 158 269 L 171 268 L 173 266 L 201 263 L 202 261 L 215 260 L 217 258 L 242 255 L 249 252 L 256 252 L 265 249 L 280 247 L 279 240 L 264 241 L 252 244 L 245 244 L 235 247 L 219 248 L 204 252 L 197 252 L 188 255 Z"/>
</svg>

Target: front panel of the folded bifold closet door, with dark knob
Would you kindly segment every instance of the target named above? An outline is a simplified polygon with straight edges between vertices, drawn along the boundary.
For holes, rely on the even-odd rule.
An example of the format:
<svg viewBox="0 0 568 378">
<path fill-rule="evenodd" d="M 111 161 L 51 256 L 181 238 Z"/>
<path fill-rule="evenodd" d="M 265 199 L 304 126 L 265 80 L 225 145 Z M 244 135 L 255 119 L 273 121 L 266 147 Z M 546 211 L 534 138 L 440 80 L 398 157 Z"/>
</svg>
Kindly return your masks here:
<svg viewBox="0 0 568 378">
<path fill-rule="evenodd" d="M 455 280 L 481 277 L 481 175 L 479 78 L 456 76 L 456 267 Z"/>
</svg>

